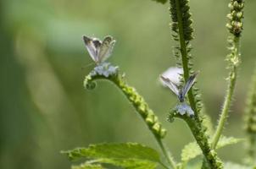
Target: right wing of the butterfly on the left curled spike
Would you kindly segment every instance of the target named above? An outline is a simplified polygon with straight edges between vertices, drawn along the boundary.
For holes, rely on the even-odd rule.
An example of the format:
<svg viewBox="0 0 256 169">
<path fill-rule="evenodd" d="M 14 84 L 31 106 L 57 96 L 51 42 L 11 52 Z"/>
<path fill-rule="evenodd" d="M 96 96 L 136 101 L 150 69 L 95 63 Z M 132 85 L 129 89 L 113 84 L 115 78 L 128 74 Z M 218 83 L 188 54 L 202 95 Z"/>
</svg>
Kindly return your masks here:
<svg viewBox="0 0 256 169">
<path fill-rule="evenodd" d="M 114 48 L 114 38 L 110 35 L 103 39 L 103 43 L 99 48 L 98 62 L 103 63 L 111 55 Z"/>
</svg>

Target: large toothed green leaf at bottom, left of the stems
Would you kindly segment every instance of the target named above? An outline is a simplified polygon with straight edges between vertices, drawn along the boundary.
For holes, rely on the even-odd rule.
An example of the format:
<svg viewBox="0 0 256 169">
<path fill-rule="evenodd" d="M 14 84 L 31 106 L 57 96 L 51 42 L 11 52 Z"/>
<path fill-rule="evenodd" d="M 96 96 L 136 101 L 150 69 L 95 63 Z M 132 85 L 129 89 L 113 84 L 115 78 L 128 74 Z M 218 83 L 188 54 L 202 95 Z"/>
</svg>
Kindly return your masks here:
<svg viewBox="0 0 256 169">
<path fill-rule="evenodd" d="M 107 163 L 126 169 L 154 169 L 159 162 L 159 153 L 145 145 L 136 143 L 92 144 L 88 148 L 62 151 L 70 160 L 82 157 L 95 163 Z"/>
</svg>

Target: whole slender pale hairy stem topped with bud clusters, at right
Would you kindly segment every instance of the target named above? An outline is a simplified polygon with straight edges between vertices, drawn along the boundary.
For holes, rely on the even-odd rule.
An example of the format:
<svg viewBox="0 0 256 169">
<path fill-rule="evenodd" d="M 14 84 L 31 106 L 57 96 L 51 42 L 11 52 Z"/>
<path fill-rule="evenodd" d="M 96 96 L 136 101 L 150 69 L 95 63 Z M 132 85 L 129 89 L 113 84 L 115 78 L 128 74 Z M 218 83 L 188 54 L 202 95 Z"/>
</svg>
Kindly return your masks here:
<svg viewBox="0 0 256 169">
<path fill-rule="evenodd" d="M 225 127 L 225 122 L 228 117 L 228 112 L 231 107 L 231 100 L 234 94 L 236 82 L 237 82 L 237 67 L 240 63 L 240 37 L 242 34 L 242 19 L 243 19 L 243 0 L 231 0 L 229 3 L 229 8 L 231 8 L 230 14 L 227 15 L 229 19 L 226 27 L 231 33 L 231 39 L 229 43 L 231 47 L 231 53 L 227 56 L 227 61 L 229 63 L 229 68 L 231 73 L 229 75 L 229 87 L 225 96 L 224 106 L 220 114 L 220 120 L 214 134 L 214 139 L 212 142 L 212 148 L 215 148 L 220 139 L 223 128 Z"/>
</svg>

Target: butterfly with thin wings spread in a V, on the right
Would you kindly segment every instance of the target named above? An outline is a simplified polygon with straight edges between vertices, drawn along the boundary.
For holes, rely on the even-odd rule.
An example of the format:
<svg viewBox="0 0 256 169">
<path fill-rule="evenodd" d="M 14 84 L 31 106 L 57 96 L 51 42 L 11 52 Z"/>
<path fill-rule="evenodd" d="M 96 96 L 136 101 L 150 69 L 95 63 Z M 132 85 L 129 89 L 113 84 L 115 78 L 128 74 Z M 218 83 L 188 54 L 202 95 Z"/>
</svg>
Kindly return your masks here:
<svg viewBox="0 0 256 169">
<path fill-rule="evenodd" d="M 197 75 L 198 75 L 198 72 L 195 74 L 192 74 L 192 76 L 190 76 L 187 79 L 186 85 L 184 85 L 184 87 L 181 89 L 179 89 L 179 87 L 175 85 L 174 82 L 172 82 L 168 78 L 165 78 L 163 75 L 161 75 L 161 79 L 164 81 L 164 84 L 167 85 L 170 88 L 170 90 L 172 90 L 175 93 L 175 95 L 178 96 L 179 101 L 184 102 L 185 96 L 187 92 L 191 89 L 192 85 L 194 84 Z"/>
</svg>

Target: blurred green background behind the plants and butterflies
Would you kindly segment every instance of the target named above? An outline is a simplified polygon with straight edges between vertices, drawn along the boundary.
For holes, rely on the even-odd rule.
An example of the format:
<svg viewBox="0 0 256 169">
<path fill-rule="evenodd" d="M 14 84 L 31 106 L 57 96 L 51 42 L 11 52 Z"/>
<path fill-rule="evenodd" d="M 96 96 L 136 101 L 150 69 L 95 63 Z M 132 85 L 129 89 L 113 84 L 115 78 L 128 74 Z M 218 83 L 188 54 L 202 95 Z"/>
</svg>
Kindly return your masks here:
<svg viewBox="0 0 256 169">
<path fill-rule="evenodd" d="M 228 1 L 192 1 L 192 41 L 198 86 L 206 112 L 218 118 L 225 96 L 225 15 Z M 242 114 L 256 54 L 255 1 L 246 2 L 242 65 L 226 135 L 244 137 Z M 156 149 L 152 134 L 120 91 L 108 82 L 84 90 L 92 59 L 81 35 L 113 35 L 111 63 L 119 65 L 169 132 L 175 158 L 193 140 L 185 123 L 165 122 L 176 98 L 158 82 L 175 66 L 169 4 L 150 0 L 0 1 L 0 168 L 69 168 L 60 150 L 102 142 L 139 142 Z M 243 144 L 219 150 L 225 161 L 241 162 Z"/>
</svg>

